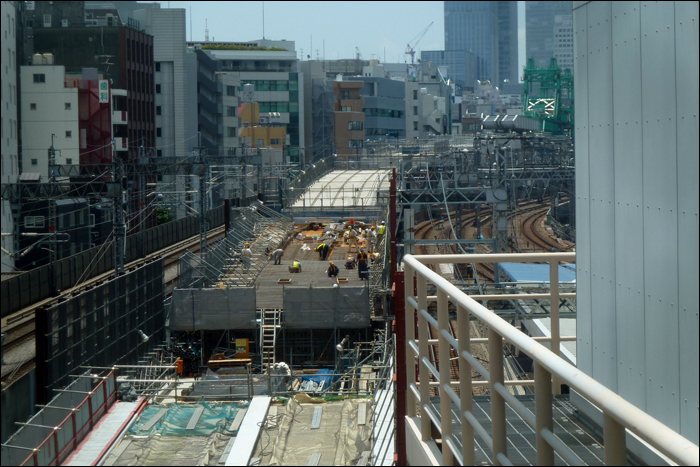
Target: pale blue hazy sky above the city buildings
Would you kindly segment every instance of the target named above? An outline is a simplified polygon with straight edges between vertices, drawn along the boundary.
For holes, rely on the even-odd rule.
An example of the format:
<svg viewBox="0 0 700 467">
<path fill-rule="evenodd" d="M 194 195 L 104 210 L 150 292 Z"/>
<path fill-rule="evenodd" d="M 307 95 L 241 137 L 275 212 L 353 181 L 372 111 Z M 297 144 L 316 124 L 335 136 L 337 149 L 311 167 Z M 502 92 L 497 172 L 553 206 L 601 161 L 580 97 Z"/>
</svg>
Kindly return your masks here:
<svg viewBox="0 0 700 467">
<path fill-rule="evenodd" d="M 355 47 L 365 59 L 390 63 L 410 60 L 406 45 L 431 22 L 433 25 L 415 47 L 442 50 L 445 28 L 442 2 L 158 2 L 162 8 L 187 10 L 187 40 L 245 42 L 265 38 L 295 41 L 297 55 L 328 60 L 354 58 Z M 524 4 L 518 2 L 520 46 L 524 64 Z M 190 7 L 192 31 L 190 36 Z M 411 44 L 413 45 L 413 44 Z"/>
</svg>

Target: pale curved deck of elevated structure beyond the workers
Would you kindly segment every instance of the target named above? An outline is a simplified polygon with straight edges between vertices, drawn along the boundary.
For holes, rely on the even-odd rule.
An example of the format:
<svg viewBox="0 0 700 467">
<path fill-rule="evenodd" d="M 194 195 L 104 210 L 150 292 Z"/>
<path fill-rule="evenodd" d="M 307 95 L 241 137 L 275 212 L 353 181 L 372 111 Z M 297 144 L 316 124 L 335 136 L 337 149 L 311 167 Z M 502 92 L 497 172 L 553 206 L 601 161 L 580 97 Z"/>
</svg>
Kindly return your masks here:
<svg viewBox="0 0 700 467">
<path fill-rule="evenodd" d="M 304 212 L 381 210 L 377 191 L 388 189 L 388 170 L 334 170 L 309 186 L 292 209 Z"/>
</svg>

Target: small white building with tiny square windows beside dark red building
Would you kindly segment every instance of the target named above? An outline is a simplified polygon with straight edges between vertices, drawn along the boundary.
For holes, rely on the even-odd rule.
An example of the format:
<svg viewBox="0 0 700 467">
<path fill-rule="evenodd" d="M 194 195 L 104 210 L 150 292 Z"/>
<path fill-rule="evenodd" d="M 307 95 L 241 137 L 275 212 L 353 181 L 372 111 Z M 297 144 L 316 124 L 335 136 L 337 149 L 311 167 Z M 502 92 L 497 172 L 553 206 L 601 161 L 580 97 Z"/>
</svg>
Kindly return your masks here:
<svg viewBox="0 0 700 467">
<path fill-rule="evenodd" d="M 45 82 L 35 83 L 34 75 L 43 74 Z M 49 176 L 48 149 L 55 135 L 56 163 L 80 162 L 80 125 L 78 88 L 66 88 L 62 65 L 23 66 L 22 81 L 22 171 Z M 66 108 L 70 104 L 70 108 Z M 36 109 L 33 110 L 33 105 Z M 70 132 L 70 137 L 68 133 Z M 36 159 L 34 165 L 32 161 Z"/>
</svg>

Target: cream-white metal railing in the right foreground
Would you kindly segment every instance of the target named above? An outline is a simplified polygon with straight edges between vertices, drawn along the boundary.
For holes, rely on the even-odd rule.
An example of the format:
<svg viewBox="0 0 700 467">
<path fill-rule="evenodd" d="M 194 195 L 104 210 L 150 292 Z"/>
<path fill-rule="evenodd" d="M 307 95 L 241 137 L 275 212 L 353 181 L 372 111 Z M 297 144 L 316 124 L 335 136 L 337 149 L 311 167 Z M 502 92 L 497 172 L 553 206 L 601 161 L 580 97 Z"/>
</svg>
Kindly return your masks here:
<svg viewBox="0 0 700 467">
<path fill-rule="evenodd" d="M 559 263 L 574 262 L 575 253 L 522 253 L 491 255 L 426 255 L 404 256 L 404 283 L 406 305 L 406 414 L 416 417 L 416 403 L 420 401 L 420 430 L 424 442 L 434 442 L 431 424 L 435 425 L 443 440 L 442 463 L 452 465 L 474 465 L 474 434 L 478 434 L 493 453 L 494 465 L 512 465 L 507 457 L 506 406 L 517 412 L 536 434 L 537 463 L 554 465 L 554 451 L 572 465 L 583 465 L 583 461 L 566 446 L 553 432 L 552 394 L 558 393 L 560 384 L 567 384 L 603 412 L 603 436 L 605 463 L 626 465 L 625 430 L 636 434 L 655 449 L 682 465 L 698 465 L 698 446 L 676 433 L 663 423 L 633 406 L 622 397 L 606 388 L 593 378 L 581 373 L 576 367 L 558 356 L 562 340 L 559 334 L 559 300 L 574 298 L 576 294 L 559 293 Z M 549 263 L 550 291 L 548 294 L 505 294 L 468 296 L 449 281 L 429 269 L 426 264 L 439 263 Z M 415 290 L 413 288 L 416 278 Z M 427 285 L 437 288 L 436 296 L 428 296 Z M 415 293 L 415 295 L 414 295 Z M 481 304 L 479 300 L 551 300 L 552 332 L 550 338 L 528 337 L 507 321 L 497 316 Z M 437 301 L 437 320 L 428 312 L 428 302 Z M 449 332 L 448 303 L 457 308 L 457 336 Z M 418 339 L 416 338 L 415 316 L 418 314 Z M 470 315 L 474 315 L 488 327 L 487 339 L 471 339 L 469 334 Z M 438 339 L 430 340 L 428 324 L 438 330 Z M 534 380 L 504 381 L 503 344 L 504 339 L 525 352 L 534 360 Z M 551 350 L 540 342 L 550 342 Z M 487 343 L 489 352 L 488 368 L 484 367 L 470 352 L 472 343 Z M 429 360 L 429 345 L 438 346 L 439 370 Z M 450 346 L 459 355 L 459 374 L 467 375 L 459 381 L 450 381 Z M 419 364 L 420 381 L 416 379 L 415 359 Z M 492 430 L 488 433 L 473 413 L 471 377 L 472 368 L 486 380 L 491 394 Z M 430 383 L 430 375 L 438 383 Z M 423 383 L 424 382 L 424 383 Z M 481 383 L 481 382 L 474 382 Z M 535 414 L 518 401 L 506 386 L 524 384 L 534 386 Z M 440 388 L 440 418 L 430 405 L 430 387 Z M 452 389 L 458 386 L 460 396 Z M 462 430 L 462 450 L 452 434 L 452 423 L 438 420 L 452 420 L 451 404 L 460 408 Z"/>
</svg>

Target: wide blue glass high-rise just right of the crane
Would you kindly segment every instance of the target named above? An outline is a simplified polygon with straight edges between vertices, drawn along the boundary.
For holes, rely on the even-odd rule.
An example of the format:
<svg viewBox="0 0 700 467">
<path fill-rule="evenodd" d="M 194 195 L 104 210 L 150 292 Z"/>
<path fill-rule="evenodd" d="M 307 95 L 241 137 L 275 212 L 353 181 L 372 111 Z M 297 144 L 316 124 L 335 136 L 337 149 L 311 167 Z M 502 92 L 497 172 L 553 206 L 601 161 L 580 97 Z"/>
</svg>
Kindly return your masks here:
<svg viewBox="0 0 700 467">
<path fill-rule="evenodd" d="M 499 87 L 518 82 L 517 3 L 445 2 L 445 52 L 476 56 L 476 79 Z M 430 60 L 437 57 L 426 57 Z M 436 61 L 443 65 L 443 63 Z M 465 73 L 465 78 L 469 76 Z M 472 87 L 473 83 L 464 83 Z"/>
</svg>

